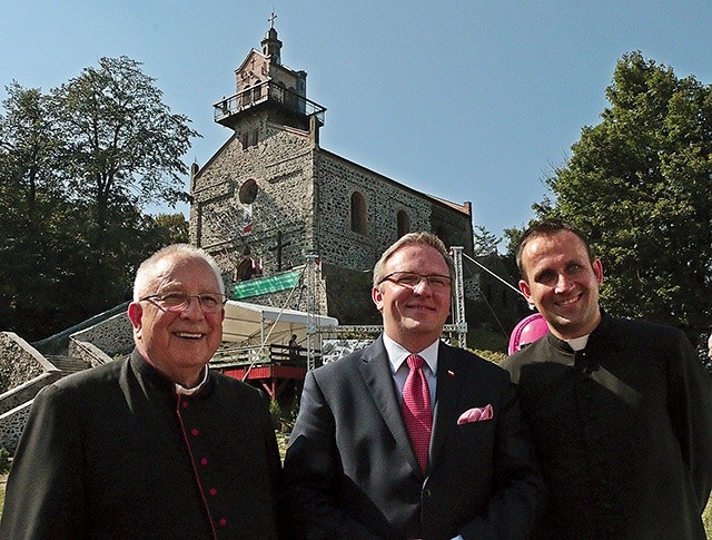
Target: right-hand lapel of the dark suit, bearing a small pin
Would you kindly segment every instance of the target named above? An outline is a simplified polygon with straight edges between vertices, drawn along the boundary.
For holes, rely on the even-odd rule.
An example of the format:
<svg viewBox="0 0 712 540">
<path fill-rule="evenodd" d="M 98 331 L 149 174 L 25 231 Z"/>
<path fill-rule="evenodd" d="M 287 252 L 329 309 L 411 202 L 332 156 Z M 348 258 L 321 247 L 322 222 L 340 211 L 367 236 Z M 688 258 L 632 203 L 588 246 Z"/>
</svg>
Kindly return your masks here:
<svg viewBox="0 0 712 540">
<path fill-rule="evenodd" d="M 465 379 L 458 374 L 457 359 L 453 351 L 441 343 L 437 355 L 437 389 L 433 414 L 433 436 L 431 439 L 431 462 L 435 463 L 447 433 L 457 423 L 457 403 Z M 458 376 L 459 375 L 459 376 Z"/>
</svg>

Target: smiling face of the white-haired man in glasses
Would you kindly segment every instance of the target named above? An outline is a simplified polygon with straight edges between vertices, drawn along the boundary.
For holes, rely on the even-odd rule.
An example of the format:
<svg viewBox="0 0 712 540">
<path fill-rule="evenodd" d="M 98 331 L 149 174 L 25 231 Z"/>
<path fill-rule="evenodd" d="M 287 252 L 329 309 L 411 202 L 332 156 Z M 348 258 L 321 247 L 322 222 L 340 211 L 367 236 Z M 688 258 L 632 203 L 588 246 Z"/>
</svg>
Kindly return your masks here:
<svg viewBox="0 0 712 540">
<path fill-rule="evenodd" d="M 219 293 L 210 265 L 195 256 L 174 255 L 158 262 L 140 297 L 168 292 Z M 136 345 L 144 357 L 171 381 L 186 387 L 199 382 L 202 366 L 222 340 L 225 310 L 204 313 L 197 298 L 180 311 L 151 301 L 132 302 L 128 311 Z"/>
</svg>

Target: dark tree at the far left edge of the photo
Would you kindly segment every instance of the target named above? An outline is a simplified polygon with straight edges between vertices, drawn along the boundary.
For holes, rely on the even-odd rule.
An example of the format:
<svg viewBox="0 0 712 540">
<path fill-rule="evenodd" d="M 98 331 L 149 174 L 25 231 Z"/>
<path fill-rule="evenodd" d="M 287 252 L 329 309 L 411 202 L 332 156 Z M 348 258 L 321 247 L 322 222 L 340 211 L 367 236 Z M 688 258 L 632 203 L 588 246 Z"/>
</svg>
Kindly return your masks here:
<svg viewBox="0 0 712 540">
<path fill-rule="evenodd" d="M 81 209 L 58 176 L 59 134 L 39 89 L 7 87 L 0 117 L 0 323 L 39 337 L 62 321 L 68 262 L 81 252 Z M 69 285 L 69 287 L 68 287 Z"/>
</svg>

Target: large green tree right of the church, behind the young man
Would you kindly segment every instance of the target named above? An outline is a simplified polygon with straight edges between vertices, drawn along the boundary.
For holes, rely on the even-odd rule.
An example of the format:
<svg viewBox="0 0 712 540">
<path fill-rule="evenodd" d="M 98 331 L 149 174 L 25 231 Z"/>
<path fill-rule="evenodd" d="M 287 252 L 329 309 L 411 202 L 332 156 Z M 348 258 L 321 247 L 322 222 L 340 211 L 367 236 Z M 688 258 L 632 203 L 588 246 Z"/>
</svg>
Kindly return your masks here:
<svg viewBox="0 0 712 540">
<path fill-rule="evenodd" d="M 606 96 L 547 179 L 555 200 L 534 209 L 589 236 L 609 313 L 699 334 L 712 317 L 712 88 L 632 52 Z"/>
</svg>

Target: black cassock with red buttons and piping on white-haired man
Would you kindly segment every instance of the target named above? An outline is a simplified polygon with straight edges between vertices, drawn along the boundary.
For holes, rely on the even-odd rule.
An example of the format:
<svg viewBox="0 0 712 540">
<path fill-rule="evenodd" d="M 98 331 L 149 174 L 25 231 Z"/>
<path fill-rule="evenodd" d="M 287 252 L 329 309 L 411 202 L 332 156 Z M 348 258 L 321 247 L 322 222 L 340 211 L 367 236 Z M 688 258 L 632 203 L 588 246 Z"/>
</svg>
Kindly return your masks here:
<svg viewBox="0 0 712 540">
<path fill-rule="evenodd" d="M 134 351 L 34 399 L 0 538 L 275 538 L 279 474 L 259 391 L 211 372 L 177 394 Z"/>
</svg>

